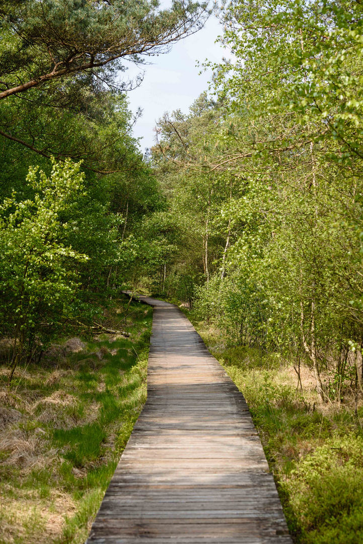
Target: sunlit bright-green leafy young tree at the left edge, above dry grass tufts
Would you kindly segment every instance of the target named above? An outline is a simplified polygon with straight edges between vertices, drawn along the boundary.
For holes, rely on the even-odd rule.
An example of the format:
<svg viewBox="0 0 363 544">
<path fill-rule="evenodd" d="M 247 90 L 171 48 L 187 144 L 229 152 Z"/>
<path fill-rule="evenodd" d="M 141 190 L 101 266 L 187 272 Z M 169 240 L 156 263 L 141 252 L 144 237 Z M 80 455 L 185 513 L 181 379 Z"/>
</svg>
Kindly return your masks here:
<svg viewBox="0 0 363 544">
<path fill-rule="evenodd" d="M 19 201 L 14 194 L 0 208 L 2 334 L 13 342 L 9 384 L 24 353 L 32 355 L 41 343 L 42 332 L 78 313 L 76 263 L 88 257 L 62 243 L 71 225 L 60 215 L 72 207 L 83 181 L 79 165 L 53 160 L 49 178 L 29 169 L 34 199 Z"/>
</svg>

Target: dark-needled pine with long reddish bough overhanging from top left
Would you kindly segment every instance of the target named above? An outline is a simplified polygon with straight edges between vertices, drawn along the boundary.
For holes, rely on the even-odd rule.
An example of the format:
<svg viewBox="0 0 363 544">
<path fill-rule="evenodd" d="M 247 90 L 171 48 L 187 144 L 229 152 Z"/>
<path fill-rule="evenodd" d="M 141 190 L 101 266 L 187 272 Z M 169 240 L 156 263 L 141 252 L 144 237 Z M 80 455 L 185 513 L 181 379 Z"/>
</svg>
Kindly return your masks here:
<svg viewBox="0 0 363 544">
<path fill-rule="evenodd" d="M 5 0 L 0 8 L 0 100 L 15 109 L 27 103 L 33 113 L 86 108 L 87 87 L 99 93 L 127 86 L 117 83 L 125 70 L 122 59 L 142 64 L 142 55 L 167 51 L 172 42 L 201 28 L 205 15 L 204 5 L 177 0 L 170 10 L 160 10 L 154 0 Z M 44 148 L 42 131 L 28 125 L 25 134 L 18 134 L 9 119 L 3 110 L 4 138 L 46 157 L 68 152 L 84 158 L 84 149 L 59 153 L 57 145 Z"/>
</svg>

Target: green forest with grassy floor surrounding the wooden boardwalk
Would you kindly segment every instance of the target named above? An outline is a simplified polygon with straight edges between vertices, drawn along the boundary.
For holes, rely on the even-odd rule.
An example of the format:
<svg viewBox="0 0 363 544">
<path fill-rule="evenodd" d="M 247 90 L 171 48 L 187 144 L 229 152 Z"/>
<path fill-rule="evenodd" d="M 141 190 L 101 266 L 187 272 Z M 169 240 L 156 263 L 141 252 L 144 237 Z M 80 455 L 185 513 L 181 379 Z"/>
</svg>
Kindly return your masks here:
<svg viewBox="0 0 363 544">
<path fill-rule="evenodd" d="M 230 58 L 143 155 L 126 61 L 215 16 Z M 146 400 L 126 290 L 177 304 L 245 395 L 293 542 L 362 542 L 361 2 L 0 18 L 0 542 L 85 541 Z"/>
</svg>

